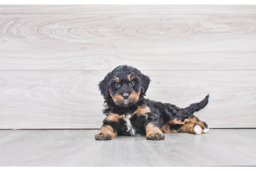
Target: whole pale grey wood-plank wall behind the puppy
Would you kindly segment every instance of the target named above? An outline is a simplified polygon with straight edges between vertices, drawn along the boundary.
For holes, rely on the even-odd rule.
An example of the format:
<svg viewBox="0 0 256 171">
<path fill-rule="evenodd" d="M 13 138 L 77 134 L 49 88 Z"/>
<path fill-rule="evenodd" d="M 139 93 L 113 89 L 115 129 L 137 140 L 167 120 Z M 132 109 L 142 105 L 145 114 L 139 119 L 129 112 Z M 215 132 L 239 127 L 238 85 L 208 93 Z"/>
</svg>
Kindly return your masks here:
<svg viewBox="0 0 256 171">
<path fill-rule="evenodd" d="M 255 5 L 0 5 L 0 129 L 100 128 L 119 65 L 210 128 L 256 127 Z"/>
</svg>

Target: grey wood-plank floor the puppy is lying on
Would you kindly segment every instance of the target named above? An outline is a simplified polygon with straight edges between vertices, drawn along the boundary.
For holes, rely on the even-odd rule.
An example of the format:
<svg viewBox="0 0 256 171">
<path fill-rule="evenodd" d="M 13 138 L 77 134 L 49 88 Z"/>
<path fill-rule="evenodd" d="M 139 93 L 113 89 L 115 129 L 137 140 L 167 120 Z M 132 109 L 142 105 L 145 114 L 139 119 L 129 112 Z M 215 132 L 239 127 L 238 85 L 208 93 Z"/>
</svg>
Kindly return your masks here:
<svg viewBox="0 0 256 171">
<path fill-rule="evenodd" d="M 94 139 L 98 130 L 17 130 L 0 138 L 1 166 L 255 166 L 254 129 Z M 0 130 L 1 132 L 1 130 Z"/>
</svg>

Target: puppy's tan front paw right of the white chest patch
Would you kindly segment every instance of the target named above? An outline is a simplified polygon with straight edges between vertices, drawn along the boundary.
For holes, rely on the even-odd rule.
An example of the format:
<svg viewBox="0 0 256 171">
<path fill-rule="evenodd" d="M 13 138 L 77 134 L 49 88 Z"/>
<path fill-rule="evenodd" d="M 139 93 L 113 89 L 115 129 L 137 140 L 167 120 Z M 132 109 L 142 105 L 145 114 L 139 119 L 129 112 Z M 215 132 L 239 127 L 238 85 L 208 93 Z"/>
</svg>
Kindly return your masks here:
<svg viewBox="0 0 256 171">
<path fill-rule="evenodd" d="M 164 140 L 164 133 L 157 126 L 155 126 L 153 122 L 150 122 L 146 126 L 146 139 Z"/>
</svg>

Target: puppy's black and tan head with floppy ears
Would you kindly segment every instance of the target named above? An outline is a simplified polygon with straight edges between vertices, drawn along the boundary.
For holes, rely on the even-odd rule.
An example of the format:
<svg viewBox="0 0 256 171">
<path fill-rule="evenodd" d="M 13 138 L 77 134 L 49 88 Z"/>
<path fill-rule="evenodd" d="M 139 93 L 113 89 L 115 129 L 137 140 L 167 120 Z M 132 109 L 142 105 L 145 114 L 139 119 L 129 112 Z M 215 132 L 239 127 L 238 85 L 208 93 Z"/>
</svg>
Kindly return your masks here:
<svg viewBox="0 0 256 171">
<path fill-rule="evenodd" d="M 99 84 L 104 99 L 112 98 L 121 107 L 129 107 L 144 96 L 150 83 L 150 78 L 138 69 L 122 65 L 108 73 Z"/>
</svg>

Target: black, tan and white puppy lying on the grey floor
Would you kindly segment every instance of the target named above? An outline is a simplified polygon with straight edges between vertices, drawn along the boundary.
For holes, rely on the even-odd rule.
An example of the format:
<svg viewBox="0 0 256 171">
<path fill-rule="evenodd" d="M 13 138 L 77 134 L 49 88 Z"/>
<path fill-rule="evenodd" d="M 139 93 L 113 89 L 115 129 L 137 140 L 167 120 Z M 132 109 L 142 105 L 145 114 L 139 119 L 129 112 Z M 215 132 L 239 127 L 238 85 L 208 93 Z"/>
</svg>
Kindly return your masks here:
<svg viewBox="0 0 256 171">
<path fill-rule="evenodd" d="M 164 140 L 163 132 L 196 135 L 208 132 L 207 124 L 193 113 L 207 105 L 209 95 L 183 109 L 144 98 L 149 83 L 148 76 L 127 65 L 118 66 L 106 75 L 99 88 L 107 117 L 95 135 L 96 140 L 111 140 L 117 135 L 146 135 L 147 140 Z"/>
</svg>

